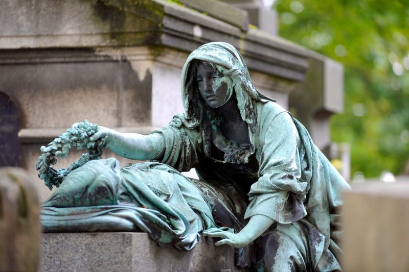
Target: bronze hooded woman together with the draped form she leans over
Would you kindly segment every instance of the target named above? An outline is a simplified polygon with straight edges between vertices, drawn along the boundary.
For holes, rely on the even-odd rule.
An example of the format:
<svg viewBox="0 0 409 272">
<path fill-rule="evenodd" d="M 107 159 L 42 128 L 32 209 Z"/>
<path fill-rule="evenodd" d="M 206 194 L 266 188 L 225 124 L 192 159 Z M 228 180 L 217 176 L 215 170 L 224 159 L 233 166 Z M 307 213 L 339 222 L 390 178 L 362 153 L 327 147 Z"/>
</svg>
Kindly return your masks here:
<svg viewBox="0 0 409 272">
<path fill-rule="evenodd" d="M 73 171 L 43 203 L 46 230 L 70 219 L 80 229 L 122 224 L 182 249 L 202 231 L 216 245 L 251 244 L 253 268 L 340 270 L 338 208 L 349 186 L 303 125 L 255 89 L 236 48 L 212 42 L 190 54 L 182 97 L 185 112 L 147 136 L 99 127 L 91 140 L 150 162 Z M 191 168 L 199 180 L 179 173 Z"/>
</svg>

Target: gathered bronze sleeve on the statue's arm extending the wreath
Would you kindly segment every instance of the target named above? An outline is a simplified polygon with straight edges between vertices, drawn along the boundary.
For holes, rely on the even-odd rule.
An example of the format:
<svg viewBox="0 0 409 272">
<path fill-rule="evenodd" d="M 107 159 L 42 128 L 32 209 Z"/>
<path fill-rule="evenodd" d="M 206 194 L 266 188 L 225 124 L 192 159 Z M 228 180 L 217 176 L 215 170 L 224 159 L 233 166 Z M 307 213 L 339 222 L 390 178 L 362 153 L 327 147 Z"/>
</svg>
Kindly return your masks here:
<svg viewBox="0 0 409 272">
<path fill-rule="evenodd" d="M 172 166 L 179 172 L 189 171 L 198 162 L 202 150 L 201 133 L 198 129 L 188 129 L 183 117 L 176 115 L 159 133 L 165 139 L 164 152 L 154 161 Z"/>
</svg>

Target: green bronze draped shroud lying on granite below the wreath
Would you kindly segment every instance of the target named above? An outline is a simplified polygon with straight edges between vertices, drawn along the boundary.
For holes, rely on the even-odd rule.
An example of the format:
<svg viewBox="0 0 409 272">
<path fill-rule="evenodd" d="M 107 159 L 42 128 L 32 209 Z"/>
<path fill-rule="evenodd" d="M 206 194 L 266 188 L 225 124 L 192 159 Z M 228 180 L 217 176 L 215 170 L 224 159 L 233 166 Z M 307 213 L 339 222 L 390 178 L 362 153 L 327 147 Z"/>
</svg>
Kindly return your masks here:
<svg viewBox="0 0 409 272">
<path fill-rule="evenodd" d="M 106 160 L 88 162 L 81 171 L 106 165 Z M 101 179 L 117 177 L 115 169 L 103 169 L 100 175 L 81 181 L 75 171 L 67 176 L 61 188 L 42 204 L 44 231 L 143 231 L 160 245 L 190 250 L 203 228 L 216 227 L 202 192 L 174 168 L 156 162 L 131 164 L 123 167 L 120 179 L 109 182 Z M 112 199 L 113 195 L 117 197 Z M 64 200 L 69 200 L 67 206 L 72 204 L 70 197 L 75 196 L 89 205 L 61 207 Z M 105 197 L 115 203 L 101 205 Z"/>
</svg>

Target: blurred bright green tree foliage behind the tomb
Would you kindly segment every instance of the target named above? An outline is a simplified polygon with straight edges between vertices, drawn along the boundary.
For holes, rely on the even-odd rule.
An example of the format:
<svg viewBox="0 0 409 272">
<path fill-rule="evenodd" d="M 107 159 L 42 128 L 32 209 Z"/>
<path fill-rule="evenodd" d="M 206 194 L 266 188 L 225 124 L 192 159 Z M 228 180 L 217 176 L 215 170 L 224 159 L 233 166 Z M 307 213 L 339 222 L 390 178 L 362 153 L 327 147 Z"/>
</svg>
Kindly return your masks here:
<svg viewBox="0 0 409 272">
<path fill-rule="evenodd" d="M 407 171 L 409 159 L 409 3 L 277 0 L 279 35 L 345 68 L 345 112 L 331 138 L 351 144 L 351 173 Z"/>
</svg>

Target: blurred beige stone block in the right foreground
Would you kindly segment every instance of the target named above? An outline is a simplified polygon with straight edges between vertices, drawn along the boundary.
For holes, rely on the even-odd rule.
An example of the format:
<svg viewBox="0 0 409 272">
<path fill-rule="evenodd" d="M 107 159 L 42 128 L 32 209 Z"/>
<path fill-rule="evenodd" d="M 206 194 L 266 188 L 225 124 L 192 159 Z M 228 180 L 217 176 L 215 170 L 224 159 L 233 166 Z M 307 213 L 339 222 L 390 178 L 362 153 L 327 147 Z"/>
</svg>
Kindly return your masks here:
<svg viewBox="0 0 409 272">
<path fill-rule="evenodd" d="M 345 271 L 409 271 L 409 182 L 344 194 Z"/>
</svg>

